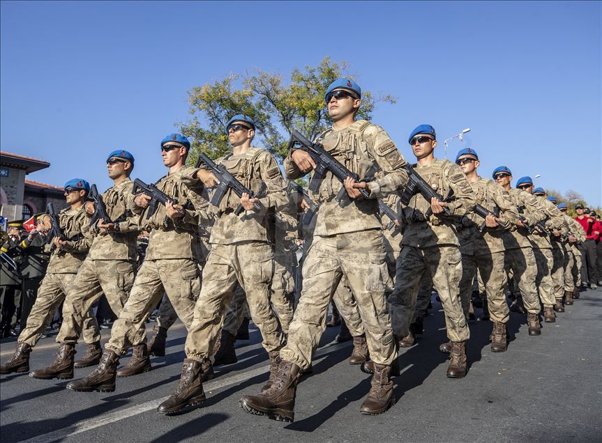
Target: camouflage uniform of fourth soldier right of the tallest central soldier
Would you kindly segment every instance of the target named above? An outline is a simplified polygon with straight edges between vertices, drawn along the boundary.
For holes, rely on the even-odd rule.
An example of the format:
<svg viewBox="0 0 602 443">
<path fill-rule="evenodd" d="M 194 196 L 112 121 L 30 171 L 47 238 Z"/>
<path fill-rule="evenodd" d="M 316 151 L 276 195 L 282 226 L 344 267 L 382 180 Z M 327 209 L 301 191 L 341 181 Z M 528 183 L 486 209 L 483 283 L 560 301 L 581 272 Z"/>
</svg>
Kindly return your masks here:
<svg viewBox="0 0 602 443">
<path fill-rule="evenodd" d="M 545 199 L 545 197 L 535 196 L 535 199 L 541 205 L 543 215 L 547 219 L 545 227 L 548 229 L 562 228 L 564 226 L 562 212 L 552 202 Z M 537 263 L 536 286 L 539 289 L 539 299 L 544 307 L 552 307 L 556 302 L 554 283 L 552 282 L 552 272 L 555 266 L 554 257 L 552 256 L 552 243 L 550 243 L 550 238 L 547 235 L 537 233 L 536 231 L 532 235 L 529 235 L 529 240 L 533 245 L 533 252 Z"/>
</svg>

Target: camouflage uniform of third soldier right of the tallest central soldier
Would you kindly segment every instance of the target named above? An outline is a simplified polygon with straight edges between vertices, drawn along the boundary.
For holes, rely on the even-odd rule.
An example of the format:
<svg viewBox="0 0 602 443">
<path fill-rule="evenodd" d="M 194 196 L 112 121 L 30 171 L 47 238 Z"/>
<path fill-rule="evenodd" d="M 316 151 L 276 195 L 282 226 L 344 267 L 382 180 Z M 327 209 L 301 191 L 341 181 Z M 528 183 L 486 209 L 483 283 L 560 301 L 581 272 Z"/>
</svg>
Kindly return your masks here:
<svg viewBox="0 0 602 443">
<path fill-rule="evenodd" d="M 535 226 L 545 219 L 539 201 L 532 194 L 521 189 L 510 189 L 508 195 L 529 226 Z M 516 231 L 504 232 L 502 238 L 506 248 L 506 272 L 512 273 L 527 312 L 539 314 L 541 308 L 535 285 L 537 263 L 532 244 L 529 242 L 529 232 L 526 228 L 516 228 Z"/>
</svg>

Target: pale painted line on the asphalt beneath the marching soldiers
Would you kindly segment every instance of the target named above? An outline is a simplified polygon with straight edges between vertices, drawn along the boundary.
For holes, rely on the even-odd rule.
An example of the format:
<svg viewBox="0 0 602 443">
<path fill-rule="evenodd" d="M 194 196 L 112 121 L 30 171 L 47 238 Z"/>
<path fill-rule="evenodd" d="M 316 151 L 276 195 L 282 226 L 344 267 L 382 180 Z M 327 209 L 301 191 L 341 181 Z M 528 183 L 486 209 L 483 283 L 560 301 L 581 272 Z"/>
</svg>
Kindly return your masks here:
<svg viewBox="0 0 602 443">
<path fill-rule="evenodd" d="M 338 348 L 343 348 L 348 345 L 349 345 L 349 343 L 331 342 L 331 343 L 325 345 L 324 348 L 321 348 L 319 351 L 317 351 L 315 353 L 313 362 L 316 363 L 318 361 L 318 359 L 321 359 L 321 357 L 326 357 L 326 354 L 332 350 L 336 350 Z M 232 377 L 206 382 L 203 384 L 203 387 L 206 392 L 215 391 L 216 389 L 221 389 L 223 387 L 227 387 L 230 384 L 244 382 L 250 378 L 256 377 L 257 375 L 265 374 L 267 371 L 269 371 L 269 368 L 270 368 L 270 366 L 266 365 L 266 366 L 262 366 L 260 368 L 253 369 L 253 371 L 243 371 L 242 373 L 232 375 Z M 114 423 L 116 421 L 127 419 L 127 418 L 133 417 L 137 414 L 142 414 L 143 412 L 147 412 L 147 411 L 156 409 L 158 407 L 158 405 L 160 405 L 165 400 L 167 400 L 167 398 L 169 398 L 169 396 L 163 397 L 163 398 L 158 398 L 156 400 L 147 401 L 146 403 L 141 403 L 140 405 L 127 407 L 126 409 L 107 412 L 107 414 L 102 414 L 99 417 L 93 417 L 91 419 L 82 420 L 78 423 L 74 423 L 71 426 L 67 426 L 66 428 L 53 430 L 50 433 L 37 435 L 36 437 L 31 437 L 27 440 L 19 440 L 19 442 L 20 443 L 57 442 L 58 440 L 63 440 L 64 438 L 71 437 L 72 435 L 84 433 L 87 430 L 98 428 L 100 426 L 105 426 L 107 424 Z"/>
</svg>

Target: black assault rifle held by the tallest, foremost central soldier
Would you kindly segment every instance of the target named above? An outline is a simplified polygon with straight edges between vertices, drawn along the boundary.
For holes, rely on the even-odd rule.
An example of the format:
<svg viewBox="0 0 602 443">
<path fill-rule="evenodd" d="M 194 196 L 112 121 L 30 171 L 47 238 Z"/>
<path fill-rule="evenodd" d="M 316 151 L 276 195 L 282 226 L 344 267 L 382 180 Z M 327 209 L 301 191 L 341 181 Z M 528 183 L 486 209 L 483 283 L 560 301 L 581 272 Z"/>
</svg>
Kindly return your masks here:
<svg viewBox="0 0 602 443">
<path fill-rule="evenodd" d="M 353 178 L 356 182 L 366 181 L 360 180 L 358 174 L 349 171 L 349 169 L 336 160 L 336 158 L 330 155 L 320 143 L 312 143 L 299 131 L 293 130 L 291 132 L 288 150 L 291 150 L 295 146 L 298 146 L 299 149 L 308 153 L 316 164 L 313 176 L 309 182 L 309 189 L 311 192 L 317 192 L 320 182 L 324 179 L 324 176 L 326 176 L 327 171 L 331 171 L 332 175 L 338 178 L 340 182 L 343 182 L 347 177 Z M 370 193 L 366 189 L 358 188 L 357 190 L 366 198 L 370 196 Z M 340 203 L 346 193 L 345 187 L 341 187 L 334 199 Z"/>
</svg>

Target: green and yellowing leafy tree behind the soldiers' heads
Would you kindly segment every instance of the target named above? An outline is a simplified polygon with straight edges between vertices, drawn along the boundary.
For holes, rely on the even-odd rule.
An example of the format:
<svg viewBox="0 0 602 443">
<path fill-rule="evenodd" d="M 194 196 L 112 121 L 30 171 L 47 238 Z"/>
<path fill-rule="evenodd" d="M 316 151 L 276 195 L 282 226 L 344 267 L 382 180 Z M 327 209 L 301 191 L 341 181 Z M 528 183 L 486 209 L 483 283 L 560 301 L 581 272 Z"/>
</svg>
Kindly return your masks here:
<svg viewBox="0 0 602 443">
<path fill-rule="evenodd" d="M 193 146 L 188 159 L 193 164 L 198 151 L 217 158 L 229 151 L 225 125 L 236 114 L 246 114 L 257 125 L 257 140 L 266 150 L 282 161 L 287 155 L 289 132 L 318 134 L 328 127 L 329 117 L 324 104 L 324 91 L 335 79 L 354 76 L 347 63 L 336 63 L 330 57 L 319 65 L 296 68 L 285 84 L 278 73 L 255 70 L 241 77 L 236 74 L 197 86 L 188 91 L 190 120 L 179 123 L 180 131 Z M 395 103 L 391 95 L 375 97 L 362 91 L 359 118 L 370 120 L 377 102 Z"/>
</svg>

